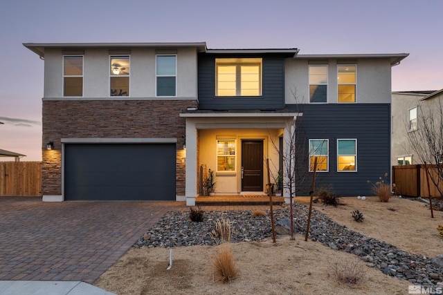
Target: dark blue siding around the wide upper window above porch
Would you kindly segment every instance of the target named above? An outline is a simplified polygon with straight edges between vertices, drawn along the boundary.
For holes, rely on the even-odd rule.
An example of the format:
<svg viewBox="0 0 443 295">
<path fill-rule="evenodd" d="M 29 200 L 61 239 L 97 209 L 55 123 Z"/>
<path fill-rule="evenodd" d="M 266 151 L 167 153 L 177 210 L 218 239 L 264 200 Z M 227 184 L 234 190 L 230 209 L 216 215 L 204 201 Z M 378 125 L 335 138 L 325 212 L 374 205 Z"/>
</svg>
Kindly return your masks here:
<svg viewBox="0 0 443 295">
<path fill-rule="evenodd" d="M 284 107 L 284 57 L 265 55 L 242 55 L 240 57 L 262 57 L 262 96 L 260 97 L 216 97 L 215 96 L 215 58 L 238 57 L 199 55 L 199 108 L 202 110 L 219 109 L 260 109 L 272 110 Z"/>
</svg>

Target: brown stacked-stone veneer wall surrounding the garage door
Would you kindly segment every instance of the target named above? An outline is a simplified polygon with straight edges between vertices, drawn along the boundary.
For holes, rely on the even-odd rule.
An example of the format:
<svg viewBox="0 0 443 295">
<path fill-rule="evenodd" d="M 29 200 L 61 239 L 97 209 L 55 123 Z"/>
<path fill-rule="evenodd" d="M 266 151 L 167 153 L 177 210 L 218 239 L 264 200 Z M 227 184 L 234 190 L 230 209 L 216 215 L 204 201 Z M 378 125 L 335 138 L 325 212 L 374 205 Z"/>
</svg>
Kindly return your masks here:
<svg viewBox="0 0 443 295">
<path fill-rule="evenodd" d="M 176 193 L 185 196 L 186 119 L 179 113 L 188 107 L 197 100 L 44 100 L 42 194 L 62 194 L 62 138 L 177 138 Z"/>
</svg>

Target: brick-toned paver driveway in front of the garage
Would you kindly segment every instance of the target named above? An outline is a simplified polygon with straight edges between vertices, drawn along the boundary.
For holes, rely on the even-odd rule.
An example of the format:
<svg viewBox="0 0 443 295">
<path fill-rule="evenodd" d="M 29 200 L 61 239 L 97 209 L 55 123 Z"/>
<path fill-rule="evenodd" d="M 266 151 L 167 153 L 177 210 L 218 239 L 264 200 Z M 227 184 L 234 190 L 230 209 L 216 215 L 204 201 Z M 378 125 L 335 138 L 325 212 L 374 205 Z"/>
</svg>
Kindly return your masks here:
<svg viewBox="0 0 443 295">
<path fill-rule="evenodd" d="M 42 202 L 0 197 L 0 280 L 93 283 L 184 202 Z"/>
</svg>

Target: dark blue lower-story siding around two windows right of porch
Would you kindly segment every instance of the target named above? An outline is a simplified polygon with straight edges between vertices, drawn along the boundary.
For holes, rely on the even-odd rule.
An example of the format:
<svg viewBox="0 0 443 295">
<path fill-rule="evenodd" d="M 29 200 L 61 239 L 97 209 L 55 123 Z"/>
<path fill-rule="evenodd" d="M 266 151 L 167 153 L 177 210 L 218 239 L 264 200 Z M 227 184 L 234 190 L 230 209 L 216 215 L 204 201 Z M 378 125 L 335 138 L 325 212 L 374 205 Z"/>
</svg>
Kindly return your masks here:
<svg viewBox="0 0 443 295">
<path fill-rule="evenodd" d="M 373 196 L 371 184 L 388 173 L 390 182 L 390 104 L 303 104 L 287 105 L 301 111 L 297 132 L 307 154 L 309 138 L 329 139 L 329 172 L 316 173 L 316 188 L 331 187 L 340 196 Z M 357 172 L 337 172 L 338 139 L 357 140 Z M 302 157 L 306 157 L 306 154 Z M 298 187 L 297 196 L 309 196 L 312 173 L 307 164 L 301 175 L 309 175 Z"/>
</svg>

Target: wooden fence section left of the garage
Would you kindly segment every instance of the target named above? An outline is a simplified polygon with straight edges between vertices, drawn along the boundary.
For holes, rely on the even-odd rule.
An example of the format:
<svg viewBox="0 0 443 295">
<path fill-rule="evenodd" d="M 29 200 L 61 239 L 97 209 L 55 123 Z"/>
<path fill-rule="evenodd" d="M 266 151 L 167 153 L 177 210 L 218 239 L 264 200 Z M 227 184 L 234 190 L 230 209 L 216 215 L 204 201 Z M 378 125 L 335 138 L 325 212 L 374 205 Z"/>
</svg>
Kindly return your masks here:
<svg viewBox="0 0 443 295">
<path fill-rule="evenodd" d="M 42 196 L 42 162 L 0 162 L 0 196 Z"/>
</svg>

